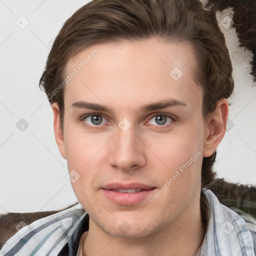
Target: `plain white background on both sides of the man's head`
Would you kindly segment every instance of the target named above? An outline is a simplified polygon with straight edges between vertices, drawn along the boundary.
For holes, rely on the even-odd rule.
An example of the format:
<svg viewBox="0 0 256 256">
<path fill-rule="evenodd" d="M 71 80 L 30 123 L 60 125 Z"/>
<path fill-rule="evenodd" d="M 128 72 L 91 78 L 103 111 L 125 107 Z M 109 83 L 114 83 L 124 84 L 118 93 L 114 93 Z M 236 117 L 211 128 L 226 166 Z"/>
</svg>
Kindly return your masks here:
<svg viewBox="0 0 256 256">
<path fill-rule="evenodd" d="M 52 110 L 38 81 L 62 24 L 86 2 L 0 1 L 0 212 L 55 210 L 77 201 L 66 177 L 66 160 L 55 142 Z M 231 12 L 220 13 L 219 18 L 226 14 Z M 16 20 L 29 24 L 20 29 Z M 249 75 L 251 53 L 238 47 L 232 27 L 221 30 L 231 38 L 227 45 L 235 93 L 229 100 L 231 126 L 218 147 L 214 168 L 226 181 L 256 185 L 256 99 L 252 96 L 256 83 Z M 28 123 L 24 131 L 16 127 L 21 118 Z"/>
</svg>

